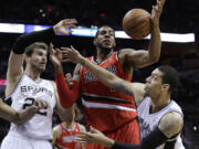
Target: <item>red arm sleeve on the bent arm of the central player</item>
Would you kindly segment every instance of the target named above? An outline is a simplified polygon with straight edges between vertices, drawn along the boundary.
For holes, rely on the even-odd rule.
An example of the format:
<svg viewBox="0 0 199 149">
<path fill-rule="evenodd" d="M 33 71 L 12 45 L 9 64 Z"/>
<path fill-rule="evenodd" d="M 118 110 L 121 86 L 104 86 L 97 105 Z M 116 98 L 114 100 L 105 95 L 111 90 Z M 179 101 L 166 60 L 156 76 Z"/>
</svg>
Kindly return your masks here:
<svg viewBox="0 0 199 149">
<path fill-rule="evenodd" d="M 69 88 L 65 83 L 63 73 L 56 73 L 55 81 L 61 105 L 65 108 L 72 107 L 80 97 L 78 82 L 73 81 L 73 87 Z"/>
</svg>

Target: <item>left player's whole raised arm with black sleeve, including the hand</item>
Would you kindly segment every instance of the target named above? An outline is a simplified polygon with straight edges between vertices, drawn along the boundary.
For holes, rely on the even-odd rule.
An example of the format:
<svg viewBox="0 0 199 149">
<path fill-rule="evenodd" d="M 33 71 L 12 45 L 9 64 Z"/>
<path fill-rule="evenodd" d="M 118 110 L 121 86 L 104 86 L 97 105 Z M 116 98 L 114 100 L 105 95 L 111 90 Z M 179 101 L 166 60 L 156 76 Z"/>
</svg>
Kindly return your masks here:
<svg viewBox="0 0 199 149">
<path fill-rule="evenodd" d="M 23 68 L 25 47 L 34 42 L 43 41 L 50 43 L 55 34 L 66 34 L 71 31 L 66 29 L 74 28 L 76 24 L 75 19 L 65 19 L 60 21 L 53 28 L 31 32 L 29 34 L 20 35 L 13 44 L 12 51 L 9 57 L 9 66 L 7 72 L 8 87 L 6 95 L 8 96 L 14 88 L 15 84 L 20 79 Z"/>
</svg>

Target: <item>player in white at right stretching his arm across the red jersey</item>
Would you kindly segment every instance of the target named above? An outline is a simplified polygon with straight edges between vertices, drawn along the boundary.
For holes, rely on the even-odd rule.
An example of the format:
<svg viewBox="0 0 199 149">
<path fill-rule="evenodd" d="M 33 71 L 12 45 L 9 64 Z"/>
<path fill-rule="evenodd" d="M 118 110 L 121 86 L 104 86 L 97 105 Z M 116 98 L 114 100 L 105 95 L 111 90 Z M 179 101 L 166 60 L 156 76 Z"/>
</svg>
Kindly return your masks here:
<svg viewBox="0 0 199 149">
<path fill-rule="evenodd" d="M 73 47 L 67 49 L 65 55 L 73 63 L 85 66 L 103 84 L 133 95 L 138 105 L 140 145 L 114 141 L 92 127 L 92 134 L 77 136 L 78 141 L 98 143 L 112 149 L 185 149 L 180 138 L 184 114 L 179 105 L 170 98 L 179 84 L 179 74 L 175 68 L 168 65 L 159 66 L 146 78 L 146 84 L 129 83 L 82 57 Z"/>
</svg>

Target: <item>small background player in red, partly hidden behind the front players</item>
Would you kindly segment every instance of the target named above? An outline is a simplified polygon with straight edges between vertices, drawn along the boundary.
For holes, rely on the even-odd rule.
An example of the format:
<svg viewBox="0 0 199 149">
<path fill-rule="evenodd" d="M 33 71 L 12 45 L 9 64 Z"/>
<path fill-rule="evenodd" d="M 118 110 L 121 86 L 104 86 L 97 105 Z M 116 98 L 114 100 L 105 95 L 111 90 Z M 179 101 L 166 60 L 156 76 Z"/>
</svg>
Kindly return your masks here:
<svg viewBox="0 0 199 149">
<path fill-rule="evenodd" d="M 67 110 L 63 108 L 60 114 L 63 123 L 53 128 L 52 145 L 55 149 L 85 149 L 85 145 L 77 142 L 75 138 L 76 135 L 85 132 L 86 129 L 83 125 L 75 123 L 80 114 L 77 106 L 74 105 L 72 108 L 72 118 L 69 120 Z"/>
</svg>

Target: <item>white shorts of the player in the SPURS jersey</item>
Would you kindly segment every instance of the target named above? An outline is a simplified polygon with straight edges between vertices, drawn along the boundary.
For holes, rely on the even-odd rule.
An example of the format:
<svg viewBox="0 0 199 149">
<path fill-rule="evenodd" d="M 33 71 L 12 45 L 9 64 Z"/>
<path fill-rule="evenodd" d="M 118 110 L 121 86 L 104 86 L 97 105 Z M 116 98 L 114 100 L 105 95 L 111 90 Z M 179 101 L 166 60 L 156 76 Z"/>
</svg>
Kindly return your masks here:
<svg viewBox="0 0 199 149">
<path fill-rule="evenodd" d="M 1 143 L 1 149 L 52 149 L 49 140 L 36 140 L 9 132 Z"/>
</svg>

